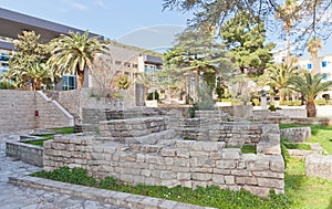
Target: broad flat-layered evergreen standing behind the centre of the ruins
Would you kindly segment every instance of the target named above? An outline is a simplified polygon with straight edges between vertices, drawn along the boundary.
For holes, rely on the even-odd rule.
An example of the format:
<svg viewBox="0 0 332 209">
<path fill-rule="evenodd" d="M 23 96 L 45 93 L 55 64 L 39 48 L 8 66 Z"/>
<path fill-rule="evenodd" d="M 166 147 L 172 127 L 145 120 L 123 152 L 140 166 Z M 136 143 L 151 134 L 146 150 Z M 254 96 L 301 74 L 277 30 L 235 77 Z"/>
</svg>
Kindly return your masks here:
<svg viewBox="0 0 332 209">
<path fill-rule="evenodd" d="M 198 100 L 201 75 L 225 75 L 234 70 L 224 46 L 217 43 L 211 34 L 193 30 L 187 30 L 178 36 L 177 43 L 165 53 L 164 60 L 168 77 L 183 77 L 186 93 L 194 92 L 191 96 L 195 101 Z M 193 79 L 194 90 L 191 90 Z M 205 79 L 208 81 L 211 76 Z"/>
</svg>

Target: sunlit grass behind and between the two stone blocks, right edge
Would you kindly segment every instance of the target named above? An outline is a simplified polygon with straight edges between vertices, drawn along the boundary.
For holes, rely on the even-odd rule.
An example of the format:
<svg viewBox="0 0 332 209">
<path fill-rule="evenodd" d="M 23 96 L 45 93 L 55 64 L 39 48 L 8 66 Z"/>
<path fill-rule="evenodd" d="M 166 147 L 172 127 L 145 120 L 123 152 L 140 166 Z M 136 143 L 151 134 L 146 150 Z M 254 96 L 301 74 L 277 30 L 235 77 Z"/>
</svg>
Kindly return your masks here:
<svg viewBox="0 0 332 209">
<path fill-rule="evenodd" d="M 319 143 L 329 155 L 332 155 L 332 126 L 322 125 L 297 125 L 297 124 L 279 124 L 280 128 L 290 127 L 311 127 L 311 137 L 307 139 L 308 143 Z"/>
</svg>

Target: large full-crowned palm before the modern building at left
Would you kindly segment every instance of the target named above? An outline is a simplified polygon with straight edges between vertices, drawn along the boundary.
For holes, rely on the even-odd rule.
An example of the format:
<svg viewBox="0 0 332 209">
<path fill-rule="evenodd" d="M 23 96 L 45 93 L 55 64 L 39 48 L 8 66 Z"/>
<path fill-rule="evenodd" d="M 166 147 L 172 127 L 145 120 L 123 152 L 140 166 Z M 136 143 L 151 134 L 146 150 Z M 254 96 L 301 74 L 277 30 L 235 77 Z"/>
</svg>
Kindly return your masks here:
<svg viewBox="0 0 332 209">
<path fill-rule="evenodd" d="M 61 74 L 76 74 L 77 88 L 82 88 L 85 69 L 91 67 L 97 53 L 105 53 L 106 42 L 100 41 L 98 36 L 89 38 L 87 30 L 82 35 L 69 33 L 70 36 L 61 34 L 50 42 L 52 55 L 48 63 Z"/>
</svg>

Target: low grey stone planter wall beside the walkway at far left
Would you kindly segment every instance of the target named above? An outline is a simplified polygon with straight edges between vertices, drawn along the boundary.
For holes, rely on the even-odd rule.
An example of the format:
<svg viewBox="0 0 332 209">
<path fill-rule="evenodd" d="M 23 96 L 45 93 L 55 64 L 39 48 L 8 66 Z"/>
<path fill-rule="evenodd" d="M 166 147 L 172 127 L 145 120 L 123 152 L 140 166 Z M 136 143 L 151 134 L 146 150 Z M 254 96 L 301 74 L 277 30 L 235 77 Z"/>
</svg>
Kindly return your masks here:
<svg viewBox="0 0 332 209">
<path fill-rule="evenodd" d="M 43 166 L 43 147 L 19 142 L 6 142 L 6 155 L 22 161 Z"/>
</svg>

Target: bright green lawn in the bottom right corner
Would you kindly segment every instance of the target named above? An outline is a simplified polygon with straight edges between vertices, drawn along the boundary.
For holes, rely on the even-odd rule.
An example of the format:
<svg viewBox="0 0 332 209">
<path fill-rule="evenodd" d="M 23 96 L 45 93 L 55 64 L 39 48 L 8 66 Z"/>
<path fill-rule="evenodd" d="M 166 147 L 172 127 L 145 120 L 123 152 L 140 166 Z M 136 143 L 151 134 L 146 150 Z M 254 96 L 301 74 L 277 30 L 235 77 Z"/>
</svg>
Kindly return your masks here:
<svg viewBox="0 0 332 209">
<path fill-rule="evenodd" d="M 331 209 L 332 181 L 307 177 L 304 159 L 289 158 L 284 176 L 286 194 L 294 209 Z"/>
</svg>

